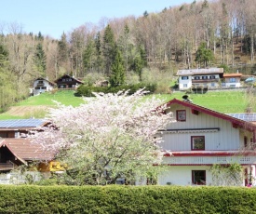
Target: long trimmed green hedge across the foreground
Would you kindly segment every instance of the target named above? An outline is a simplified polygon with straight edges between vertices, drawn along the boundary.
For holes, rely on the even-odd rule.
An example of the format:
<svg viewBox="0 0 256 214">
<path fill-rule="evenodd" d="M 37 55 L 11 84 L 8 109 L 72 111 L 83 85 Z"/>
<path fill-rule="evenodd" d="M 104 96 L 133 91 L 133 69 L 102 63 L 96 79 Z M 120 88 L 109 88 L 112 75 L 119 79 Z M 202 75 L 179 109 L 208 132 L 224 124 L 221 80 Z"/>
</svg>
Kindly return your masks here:
<svg viewBox="0 0 256 214">
<path fill-rule="evenodd" d="M 256 188 L 0 187 L 0 213 L 256 213 Z"/>
</svg>

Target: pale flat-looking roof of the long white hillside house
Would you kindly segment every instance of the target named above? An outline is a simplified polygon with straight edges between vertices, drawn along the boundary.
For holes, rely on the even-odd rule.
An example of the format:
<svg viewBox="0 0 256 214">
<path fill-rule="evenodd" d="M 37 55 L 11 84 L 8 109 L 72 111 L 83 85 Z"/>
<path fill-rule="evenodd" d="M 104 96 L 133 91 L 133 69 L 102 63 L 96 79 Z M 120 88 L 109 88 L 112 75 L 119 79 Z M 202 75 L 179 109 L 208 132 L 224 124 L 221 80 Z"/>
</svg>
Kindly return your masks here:
<svg viewBox="0 0 256 214">
<path fill-rule="evenodd" d="M 178 70 L 177 75 L 223 74 L 223 68 Z"/>
</svg>

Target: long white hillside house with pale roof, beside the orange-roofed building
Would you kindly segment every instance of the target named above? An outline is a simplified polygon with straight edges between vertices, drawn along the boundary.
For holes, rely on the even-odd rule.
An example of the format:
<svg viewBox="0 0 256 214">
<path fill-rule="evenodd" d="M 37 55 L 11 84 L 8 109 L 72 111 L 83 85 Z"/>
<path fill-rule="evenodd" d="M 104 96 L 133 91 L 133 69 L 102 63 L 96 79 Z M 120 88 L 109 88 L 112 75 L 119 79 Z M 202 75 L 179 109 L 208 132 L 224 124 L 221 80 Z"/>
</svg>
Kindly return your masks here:
<svg viewBox="0 0 256 214">
<path fill-rule="evenodd" d="M 178 70 L 179 89 L 220 87 L 222 68 Z"/>
</svg>

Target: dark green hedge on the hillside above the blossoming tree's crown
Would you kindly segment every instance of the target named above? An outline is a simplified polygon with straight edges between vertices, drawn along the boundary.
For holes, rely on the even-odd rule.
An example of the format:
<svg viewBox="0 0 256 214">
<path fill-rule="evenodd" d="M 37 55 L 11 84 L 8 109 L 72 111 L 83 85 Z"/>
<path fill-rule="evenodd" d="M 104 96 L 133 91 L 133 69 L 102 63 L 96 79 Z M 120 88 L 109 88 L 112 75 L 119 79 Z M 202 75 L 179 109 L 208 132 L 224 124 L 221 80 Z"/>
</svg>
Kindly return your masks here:
<svg viewBox="0 0 256 214">
<path fill-rule="evenodd" d="M 128 94 L 133 94 L 140 88 L 145 88 L 145 90 L 150 91 L 150 93 L 155 93 L 156 85 L 155 84 L 136 84 L 136 85 L 124 85 L 119 87 L 88 87 L 81 85 L 77 88 L 75 96 L 85 96 L 93 97 L 92 92 L 103 92 L 103 93 L 116 93 L 120 90 L 129 90 Z"/>
</svg>

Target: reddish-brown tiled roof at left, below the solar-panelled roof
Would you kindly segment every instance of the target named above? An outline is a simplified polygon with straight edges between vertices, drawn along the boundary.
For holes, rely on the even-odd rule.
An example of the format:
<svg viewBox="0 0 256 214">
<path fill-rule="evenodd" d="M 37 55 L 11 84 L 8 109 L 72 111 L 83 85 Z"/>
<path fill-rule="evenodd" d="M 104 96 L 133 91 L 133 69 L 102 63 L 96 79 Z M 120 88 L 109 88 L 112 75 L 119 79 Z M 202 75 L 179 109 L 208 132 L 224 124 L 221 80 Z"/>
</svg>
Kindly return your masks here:
<svg viewBox="0 0 256 214">
<path fill-rule="evenodd" d="M 0 148 L 7 146 L 9 151 L 14 154 L 21 162 L 29 160 L 51 160 L 53 153 L 44 151 L 43 147 L 35 144 L 31 139 L 3 139 L 0 140 Z"/>
</svg>

